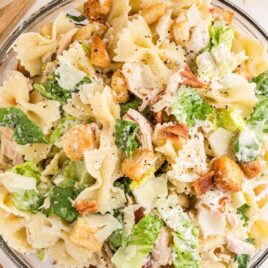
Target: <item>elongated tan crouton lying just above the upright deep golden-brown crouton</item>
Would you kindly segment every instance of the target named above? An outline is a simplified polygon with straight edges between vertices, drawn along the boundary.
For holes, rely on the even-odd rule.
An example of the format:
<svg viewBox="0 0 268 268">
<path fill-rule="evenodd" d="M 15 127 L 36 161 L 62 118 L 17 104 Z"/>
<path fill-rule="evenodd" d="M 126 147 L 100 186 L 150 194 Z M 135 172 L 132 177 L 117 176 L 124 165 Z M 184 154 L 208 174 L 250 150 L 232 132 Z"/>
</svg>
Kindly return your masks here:
<svg viewBox="0 0 268 268">
<path fill-rule="evenodd" d="M 89 25 L 82 26 L 81 28 L 79 28 L 79 30 L 74 36 L 74 40 L 77 41 L 89 40 L 90 38 L 92 38 L 92 36 L 103 35 L 106 29 L 107 27 L 104 24 L 94 21 Z"/>
</svg>

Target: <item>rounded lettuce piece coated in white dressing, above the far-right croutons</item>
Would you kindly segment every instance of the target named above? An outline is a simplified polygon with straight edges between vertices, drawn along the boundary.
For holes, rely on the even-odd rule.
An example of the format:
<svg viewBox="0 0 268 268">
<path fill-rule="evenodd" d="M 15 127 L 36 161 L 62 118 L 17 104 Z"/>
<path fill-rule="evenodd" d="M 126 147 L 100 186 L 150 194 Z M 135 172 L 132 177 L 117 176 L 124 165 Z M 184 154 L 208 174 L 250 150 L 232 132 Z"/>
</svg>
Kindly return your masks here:
<svg viewBox="0 0 268 268">
<path fill-rule="evenodd" d="M 239 162 L 255 160 L 261 153 L 261 143 L 253 131 L 245 129 L 234 142 L 235 156 Z"/>
</svg>

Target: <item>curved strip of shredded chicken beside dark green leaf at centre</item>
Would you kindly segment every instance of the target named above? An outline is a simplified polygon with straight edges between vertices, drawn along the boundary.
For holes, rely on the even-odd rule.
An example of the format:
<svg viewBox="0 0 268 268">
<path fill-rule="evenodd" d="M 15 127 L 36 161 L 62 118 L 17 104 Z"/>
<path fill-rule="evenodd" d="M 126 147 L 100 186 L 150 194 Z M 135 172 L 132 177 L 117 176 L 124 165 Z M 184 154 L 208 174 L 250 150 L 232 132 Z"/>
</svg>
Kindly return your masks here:
<svg viewBox="0 0 268 268">
<path fill-rule="evenodd" d="M 129 109 L 127 111 L 127 116 L 129 116 L 133 121 L 135 121 L 140 127 L 141 144 L 143 149 L 153 151 L 153 144 L 152 144 L 153 130 L 147 119 L 144 118 L 139 112 L 133 109 Z"/>
</svg>

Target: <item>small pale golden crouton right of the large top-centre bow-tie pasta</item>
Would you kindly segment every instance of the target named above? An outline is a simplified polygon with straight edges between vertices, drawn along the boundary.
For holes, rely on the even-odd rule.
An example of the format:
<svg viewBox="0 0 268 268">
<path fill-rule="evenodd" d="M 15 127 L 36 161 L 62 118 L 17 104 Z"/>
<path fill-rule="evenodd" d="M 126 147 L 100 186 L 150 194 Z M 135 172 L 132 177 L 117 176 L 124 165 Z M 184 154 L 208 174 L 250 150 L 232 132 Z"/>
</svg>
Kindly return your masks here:
<svg viewBox="0 0 268 268">
<path fill-rule="evenodd" d="M 172 25 L 174 41 L 177 45 L 185 46 L 191 37 L 191 28 L 187 20 L 175 22 Z"/>
</svg>

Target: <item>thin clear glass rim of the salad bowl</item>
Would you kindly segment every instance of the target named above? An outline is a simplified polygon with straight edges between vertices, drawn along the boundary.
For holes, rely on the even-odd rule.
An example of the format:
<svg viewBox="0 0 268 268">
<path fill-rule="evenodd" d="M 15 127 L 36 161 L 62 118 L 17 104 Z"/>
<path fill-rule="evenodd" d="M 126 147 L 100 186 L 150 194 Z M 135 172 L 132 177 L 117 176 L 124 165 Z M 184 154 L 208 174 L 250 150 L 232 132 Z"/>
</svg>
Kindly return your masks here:
<svg viewBox="0 0 268 268">
<path fill-rule="evenodd" d="M 223 5 L 225 7 L 230 8 L 235 13 L 239 14 L 244 20 L 249 22 L 249 24 L 257 30 L 257 32 L 261 35 L 261 37 L 264 39 L 265 42 L 268 43 L 268 33 L 264 30 L 262 26 L 258 22 L 256 22 L 247 12 L 243 11 L 240 7 L 238 7 L 236 4 L 232 3 L 230 0 L 212 0 L 218 2 L 219 6 Z M 48 14 L 49 11 L 54 12 L 54 8 L 60 8 L 64 5 L 67 5 L 69 3 L 73 2 L 72 0 L 52 0 L 50 3 L 44 5 L 39 10 L 34 12 L 24 20 L 23 23 L 21 23 L 19 26 L 17 26 L 12 33 L 3 41 L 3 44 L 1 45 L 0 49 L 0 66 L 3 64 L 6 55 L 9 53 L 9 51 L 12 49 L 13 42 L 17 39 L 17 37 L 22 34 L 25 30 L 27 30 L 35 21 L 38 21 L 40 17 L 42 17 L 45 14 Z M 216 6 L 217 3 L 215 4 Z M 7 243 L 3 240 L 3 238 L 0 236 L 0 251 L 2 251 L 6 257 L 13 262 L 14 265 L 16 265 L 19 268 L 30 268 L 33 266 L 27 262 L 26 259 L 22 258 L 20 259 L 19 256 L 22 254 L 16 253 L 13 249 L 11 249 Z M 256 256 L 257 259 L 254 261 L 250 268 L 258 268 L 260 265 L 262 265 L 265 260 L 268 258 L 268 247 L 264 252 L 260 254 L 260 256 Z"/>
</svg>

